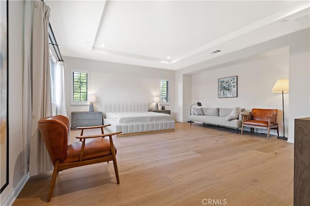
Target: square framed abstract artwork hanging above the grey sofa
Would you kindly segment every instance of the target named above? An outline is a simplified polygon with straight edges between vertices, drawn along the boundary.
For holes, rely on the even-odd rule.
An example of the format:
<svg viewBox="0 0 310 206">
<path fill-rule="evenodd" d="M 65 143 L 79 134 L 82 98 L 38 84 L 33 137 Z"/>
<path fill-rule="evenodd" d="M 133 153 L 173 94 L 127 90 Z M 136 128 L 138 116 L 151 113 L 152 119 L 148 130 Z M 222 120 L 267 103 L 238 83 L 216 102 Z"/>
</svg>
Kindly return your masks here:
<svg viewBox="0 0 310 206">
<path fill-rule="evenodd" d="M 238 76 L 217 79 L 217 98 L 238 97 Z"/>
</svg>

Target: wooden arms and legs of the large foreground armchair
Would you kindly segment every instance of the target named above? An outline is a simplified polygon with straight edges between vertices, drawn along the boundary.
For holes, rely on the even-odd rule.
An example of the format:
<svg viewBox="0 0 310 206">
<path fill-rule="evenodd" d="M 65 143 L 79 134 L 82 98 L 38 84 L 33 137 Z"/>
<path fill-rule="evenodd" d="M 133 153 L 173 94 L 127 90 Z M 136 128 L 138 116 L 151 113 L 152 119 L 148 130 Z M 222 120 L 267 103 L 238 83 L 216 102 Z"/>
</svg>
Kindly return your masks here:
<svg viewBox="0 0 310 206">
<path fill-rule="evenodd" d="M 74 168 L 74 167 L 85 166 L 85 165 L 95 164 L 95 163 L 100 163 L 100 162 L 108 162 L 109 163 L 109 161 L 113 161 L 117 184 L 120 184 L 120 177 L 119 177 L 119 174 L 118 174 L 118 167 L 117 167 L 117 162 L 116 162 L 116 154 L 115 154 L 115 148 L 114 148 L 114 145 L 113 145 L 112 136 L 116 135 L 116 134 L 120 134 L 122 132 L 113 132 L 113 133 L 105 134 L 103 128 L 107 127 L 107 126 L 110 126 L 110 125 L 100 125 L 100 126 L 94 126 L 94 127 L 79 127 L 79 128 L 77 128 L 77 129 L 81 129 L 82 130 L 81 131 L 81 135 L 76 137 L 76 138 L 79 139 L 79 141 L 82 141 L 79 162 L 60 163 L 60 160 L 56 160 L 56 162 L 54 164 L 53 175 L 52 175 L 51 182 L 50 182 L 50 188 L 49 188 L 49 192 L 48 192 L 47 202 L 50 202 L 50 200 L 51 200 L 51 196 L 52 196 L 52 193 L 53 193 L 54 187 L 55 187 L 55 182 L 56 182 L 57 174 L 59 173 L 59 171 L 62 171 L 62 170 L 65 170 L 65 169 L 70 169 L 70 168 Z M 101 134 L 83 136 L 83 131 L 85 129 L 94 129 L 94 128 L 101 128 Z M 92 160 L 84 160 L 84 161 L 82 161 L 83 155 L 84 155 L 84 150 L 85 150 L 85 140 L 86 139 L 90 139 L 90 138 L 99 138 L 99 137 L 105 138 L 107 136 L 109 136 L 111 155 L 106 156 L 106 157 L 92 159 Z"/>
</svg>

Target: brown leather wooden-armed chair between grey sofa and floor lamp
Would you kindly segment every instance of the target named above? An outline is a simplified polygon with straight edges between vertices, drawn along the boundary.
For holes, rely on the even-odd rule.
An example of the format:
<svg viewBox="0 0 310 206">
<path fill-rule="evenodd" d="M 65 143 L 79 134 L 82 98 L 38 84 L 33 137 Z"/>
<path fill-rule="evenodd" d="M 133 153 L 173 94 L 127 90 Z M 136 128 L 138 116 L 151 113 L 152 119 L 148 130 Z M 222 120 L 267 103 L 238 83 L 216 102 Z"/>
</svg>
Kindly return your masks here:
<svg viewBox="0 0 310 206">
<path fill-rule="evenodd" d="M 279 127 L 277 123 L 278 109 L 252 109 L 250 114 L 242 115 L 241 135 L 243 134 L 243 127 L 267 129 L 267 139 L 269 139 L 270 129 L 275 129 L 279 136 Z"/>
</svg>

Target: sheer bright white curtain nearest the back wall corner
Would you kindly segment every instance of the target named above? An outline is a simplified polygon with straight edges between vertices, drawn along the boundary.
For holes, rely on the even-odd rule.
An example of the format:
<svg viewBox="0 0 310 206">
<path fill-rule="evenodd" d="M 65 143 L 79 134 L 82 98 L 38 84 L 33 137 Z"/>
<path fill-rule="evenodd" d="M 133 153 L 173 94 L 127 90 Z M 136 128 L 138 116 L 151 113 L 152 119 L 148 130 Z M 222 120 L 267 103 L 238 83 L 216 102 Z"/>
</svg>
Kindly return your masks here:
<svg viewBox="0 0 310 206">
<path fill-rule="evenodd" d="M 65 63 L 57 61 L 55 71 L 55 101 L 56 101 L 56 114 L 67 116 L 66 103 L 65 103 L 65 81 L 64 81 Z"/>
</svg>

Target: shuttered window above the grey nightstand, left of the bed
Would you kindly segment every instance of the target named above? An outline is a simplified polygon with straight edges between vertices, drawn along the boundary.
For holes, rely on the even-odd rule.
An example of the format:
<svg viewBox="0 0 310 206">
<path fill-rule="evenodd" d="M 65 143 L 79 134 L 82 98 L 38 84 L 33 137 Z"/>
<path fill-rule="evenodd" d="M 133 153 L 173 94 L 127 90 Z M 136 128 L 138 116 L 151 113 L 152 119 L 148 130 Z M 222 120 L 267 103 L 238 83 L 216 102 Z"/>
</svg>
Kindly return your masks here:
<svg viewBox="0 0 310 206">
<path fill-rule="evenodd" d="M 71 104 L 87 104 L 88 79 L 87 70 L 71 70 Z"/>
</svg>

